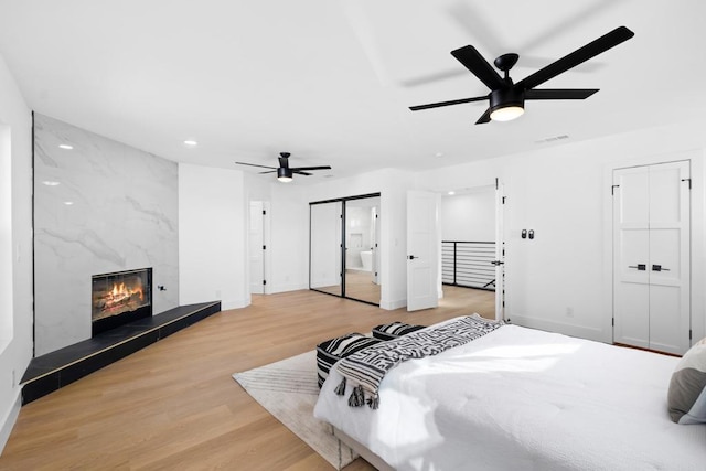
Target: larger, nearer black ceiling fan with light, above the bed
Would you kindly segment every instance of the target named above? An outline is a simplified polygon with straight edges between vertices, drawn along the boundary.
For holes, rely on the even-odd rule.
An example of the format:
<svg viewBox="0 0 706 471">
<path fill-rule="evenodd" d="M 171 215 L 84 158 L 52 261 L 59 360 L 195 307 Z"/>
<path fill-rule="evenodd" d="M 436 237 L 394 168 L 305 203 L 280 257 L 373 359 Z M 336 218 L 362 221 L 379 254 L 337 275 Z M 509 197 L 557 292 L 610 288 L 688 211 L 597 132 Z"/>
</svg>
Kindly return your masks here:
<svg viewBox="0 0 706 471">
<path fill-rule="evenodd" d="M 410 106 L 409 109 L 418 111 L 420 109 L 438 108 L 441 106 L 460 105 L 462 103 L 490 100 L 490 106 L 483 115 L 475 121 L 481 125 L 490 121 L 510 121 L 520 117 L 524 113 L 526 99 L 586 99 L 598 92 L 598 88 L 541 88 L 535 87 L 556 77 L 559 74 L 576 67 L 577 65 L 588 61 L 608 51 L 618 44 L 628 41 L 634 36 L 634 33 L 625 26 L 619 26 L 586 44 L 573 53 L 559 58 L 558 61 L 547 65 L 535 72 L 528 77 L 523 78 L 516 84 L 510 78 L 510 69 L 517 63 L 520 56 L 514 53 L 503 54 L 494 61 L 495 67 L 504 72 L 501 77 L 498 72 L 483 58 L 472 45 L 451 51 L 451 55 L 456 57 L 466 68 L 471 71 L 483 84 L 490 88 L 490 94 L 472 98 L 461 98 L 450 101 L 431 103 L 428 105 Z"/>
</svg>

